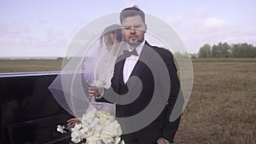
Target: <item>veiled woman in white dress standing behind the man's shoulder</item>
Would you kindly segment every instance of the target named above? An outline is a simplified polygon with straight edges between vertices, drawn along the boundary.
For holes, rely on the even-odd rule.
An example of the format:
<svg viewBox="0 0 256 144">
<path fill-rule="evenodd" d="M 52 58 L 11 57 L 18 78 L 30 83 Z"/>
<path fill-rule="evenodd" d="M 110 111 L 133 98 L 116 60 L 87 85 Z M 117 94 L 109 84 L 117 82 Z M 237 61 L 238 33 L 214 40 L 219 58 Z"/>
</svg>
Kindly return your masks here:
<svg viewBox="0 0 256 144">
<path fill-rule="evenodd" d="M 97 51 L 104 51 L 99 60 L 96 62 L 96 67 L 94 68 L 94 79 L 102 82 L 103 87 L 108 89 L 111 86 L 111 78 L 113 77 L 113 67 L 115 61 L 119 55 L 123 54 L 123 36 L 121 33 L 121 27 L 119 25 L 113 24 L 108 26 L 102 32 L 100 37 L 100 47 Z M 106 50 L 107 49 L 107 50 Z M 100 53 L 101 54 L 101 53 Z M 94 55 L 95 56 L 95 55 Z M 84 69 L 87 68 L 88 61 L 84 61 Z M 90 64 L 91 65 L 91 64 Z M 88 80 L 87 76 L 84 74 L 85 81 Z M 89 79 L 91 80 L 91 79 Z M 110 104 L 107 102 L 96 103 L 96 107 L 99 110 L 107 111 L 115 115 L 115 104 Z M 67 120 L 67 125 L 73 127 L 74 124 L 79 124 L 79 118 L 70 118 Z"/>
</svg>

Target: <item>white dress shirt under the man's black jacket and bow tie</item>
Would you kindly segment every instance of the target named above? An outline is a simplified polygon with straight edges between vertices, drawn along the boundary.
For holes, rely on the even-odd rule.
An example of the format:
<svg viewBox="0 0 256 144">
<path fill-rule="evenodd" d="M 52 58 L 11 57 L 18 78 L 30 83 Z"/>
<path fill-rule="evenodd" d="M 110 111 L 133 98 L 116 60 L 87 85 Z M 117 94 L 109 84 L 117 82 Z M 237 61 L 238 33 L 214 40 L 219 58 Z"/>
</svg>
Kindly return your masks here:
<svg viewBox="0 0 256 144">
<path fill-rule="evenodd" d="M 123 70 L 123 76 L 124 76 L 125 83 L 130 78 L 131 72 L 134 69 L 134 66 L 137 63 L 137 60 L 139 59 L 139 56 L 142 53 L 144 44 L 145 44 L 145 40 L 143 41 L 143 43 L 140 43 L 140 45 L 137 46 L 137 48 L 136 48 L 137 55 L 131 55 L 131 56 L 127 57 L 125 60 L 125 66 L 124 66 L 124 70 Z M 127 47 L 128 47 L 129 51 L 132 51 L 132 49 L 130 49 L 130 47 L 129 47 L 129 44 L 127 44 Z"/>
</svg>

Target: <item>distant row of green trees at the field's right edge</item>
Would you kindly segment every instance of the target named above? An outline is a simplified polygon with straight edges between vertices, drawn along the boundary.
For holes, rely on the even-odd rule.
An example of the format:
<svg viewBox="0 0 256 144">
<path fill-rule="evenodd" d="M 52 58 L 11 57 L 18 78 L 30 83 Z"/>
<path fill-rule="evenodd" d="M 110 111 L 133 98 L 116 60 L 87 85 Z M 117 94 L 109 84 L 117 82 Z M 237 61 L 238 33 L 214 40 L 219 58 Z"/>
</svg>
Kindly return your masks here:
<svg viewBox="0 0 256 144">
<path fill-rule="evenodd" d="M 256 47 L 248 43 L 218 43 L 211 46 L 205 44 L 198 53 L 199 58 L 224 58 L 224 57 L 256 57 Z"/>
</svg>

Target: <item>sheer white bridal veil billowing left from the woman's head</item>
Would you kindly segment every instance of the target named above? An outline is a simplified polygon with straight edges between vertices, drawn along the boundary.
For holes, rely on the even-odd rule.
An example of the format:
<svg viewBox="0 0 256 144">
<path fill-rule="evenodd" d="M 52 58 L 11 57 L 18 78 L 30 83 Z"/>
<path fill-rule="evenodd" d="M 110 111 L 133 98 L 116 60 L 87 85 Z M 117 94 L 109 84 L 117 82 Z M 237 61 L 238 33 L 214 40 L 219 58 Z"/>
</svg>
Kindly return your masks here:
<svg viewBox="0 0 256 144">
<path fill-rule="evenodd" d="M 82 118 L 91 105 L 100 110 L 115 113 L 114 104 L 91 103 L 88 95 L 88 82 L 100 83 L 105 89 L 111 85 L 115 60 L 122 54 L 124 48 L 122 42 L 116 42 L 117 34 L 115 34 L 111 49 L 107 49 L 102 44 L 102 36 L 115 31 L 120 31 L 119 25 L 108 26 L 93 43 L 85 44 L 78 55 L 66 60 L 67 64 L 62 68 L 61 73 L 49 85 L 55 100 L 76 118 Z"/>
</svg>

